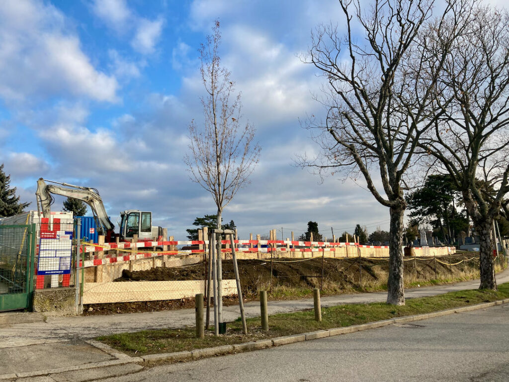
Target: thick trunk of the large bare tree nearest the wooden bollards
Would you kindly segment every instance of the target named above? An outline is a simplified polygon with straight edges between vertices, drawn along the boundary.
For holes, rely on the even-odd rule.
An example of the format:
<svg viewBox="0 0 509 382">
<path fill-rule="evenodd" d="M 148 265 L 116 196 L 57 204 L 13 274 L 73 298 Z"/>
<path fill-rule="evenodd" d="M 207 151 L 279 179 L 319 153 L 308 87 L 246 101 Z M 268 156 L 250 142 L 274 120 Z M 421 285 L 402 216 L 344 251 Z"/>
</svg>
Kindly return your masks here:
<svg viewBox="0 0 509 382">
<path fill-rule="evenodd" d="M 389 279 L 387 280 L 387 304 L 405 305 L 403 285 L 403 208 L 390 208 Z"/>
</svg>

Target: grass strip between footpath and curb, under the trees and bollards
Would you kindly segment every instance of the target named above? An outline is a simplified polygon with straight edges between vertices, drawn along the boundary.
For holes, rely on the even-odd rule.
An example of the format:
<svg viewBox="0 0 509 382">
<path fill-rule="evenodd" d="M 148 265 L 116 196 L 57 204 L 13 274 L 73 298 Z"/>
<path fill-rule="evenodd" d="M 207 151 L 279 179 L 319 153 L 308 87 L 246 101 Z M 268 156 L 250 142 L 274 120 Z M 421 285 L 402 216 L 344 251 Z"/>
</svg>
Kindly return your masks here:
<svg viewBox="0 0 509 382">
<path fill-rule="evenodd" d="M 322 321 L 314 320 L 313 310 L 281 313 L 269 317 L 269 331 L 261 331 L 260 318 L 247 320 L 248 335 L 242 335 L 240 319 L 228 323 L 226 335 L 215 337 L 206 331 L 205 338 L 195 338 L 194 328 L 161 329 L 135 333 L 101 336 L 97 339 L 129 354 L 145 355 L 197 348 L 228 345 L 265 338 L 286 336 L 320 329 L 338 328 L 389 318 L 429 313 L 439 310 L 475 305 L 509 298 L 509 283 L 498 286 L 498 291 L 466 290 L 432 297 L 407 299 L 405 306 L 383 303 L 348 304 L 322 309 Z"/>
</svg>

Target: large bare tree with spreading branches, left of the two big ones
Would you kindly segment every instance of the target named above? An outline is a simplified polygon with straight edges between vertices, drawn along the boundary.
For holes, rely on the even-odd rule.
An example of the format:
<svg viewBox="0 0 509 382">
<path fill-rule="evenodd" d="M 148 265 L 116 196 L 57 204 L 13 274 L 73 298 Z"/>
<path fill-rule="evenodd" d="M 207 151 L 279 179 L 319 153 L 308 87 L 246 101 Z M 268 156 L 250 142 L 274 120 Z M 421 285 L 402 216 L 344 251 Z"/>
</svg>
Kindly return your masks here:
<svg viewBox="0 0 509 382">
<path fill-rule="evenodd" d="M 404 305 L 404 176 L 420 136 L 439 115 L 431 111 L 431 98 L 446 56 L 446 51 L 433 55 L 423 49 L 428 42 L 419 36 L 442 28 L 445 15 L 460 13 L 461 7 L 454 2 L 432 20 L 431 0 L 377 0 L 369 12 L 355 0 L 339 3 L 346 35 L 333 26 L 319 26 L 312 35 L 307 61 L 327 79 L 320 101 L 328 112 L 323 123 L 309 122 L 318 131 L 313 138 L 321 154 L 301 163 L 318 172 L 363 177 L 376 200 L 389 208 L 387 303 Z M 355 36 L 359 30 L 363 40 Z M 443 43 L 446 48 L 448 41 Z M 431 74 L 417 76 L 425 67 Z"/>
</svg>

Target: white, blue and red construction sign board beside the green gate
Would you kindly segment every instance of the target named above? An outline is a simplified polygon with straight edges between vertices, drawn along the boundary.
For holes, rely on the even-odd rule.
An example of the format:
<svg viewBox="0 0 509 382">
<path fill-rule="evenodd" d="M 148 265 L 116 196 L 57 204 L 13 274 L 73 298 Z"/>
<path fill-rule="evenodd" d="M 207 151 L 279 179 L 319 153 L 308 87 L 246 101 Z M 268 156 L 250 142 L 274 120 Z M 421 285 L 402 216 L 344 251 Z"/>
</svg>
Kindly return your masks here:
<svg viewBox="0 0 509 382">
<path fill-rule="evenodd" d="M 71 272 L 72 224 L 54 219 L 52 230 L 41 224 L 38 275 L 68 275 Z"/>
</svg>

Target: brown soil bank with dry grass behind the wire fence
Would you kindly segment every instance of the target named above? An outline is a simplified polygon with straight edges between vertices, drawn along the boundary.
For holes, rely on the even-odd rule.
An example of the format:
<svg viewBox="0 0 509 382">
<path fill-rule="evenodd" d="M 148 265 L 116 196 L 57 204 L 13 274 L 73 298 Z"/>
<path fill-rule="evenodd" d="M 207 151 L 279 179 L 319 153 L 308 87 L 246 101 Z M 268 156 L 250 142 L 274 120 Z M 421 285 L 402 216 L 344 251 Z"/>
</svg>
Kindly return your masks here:
<svg viewBox="0 0 509 382">
<path fill-rule="evenodd" d="M 405 280 L 407 287 L 412 285 L 447 283 L 468 279 L 478 269 L 477 260 L 464 264 L 448 266 L 441 264 L 457 263 L 463 258 L 470 259 L 473 254 L 455 254 L 450 256 L 413 258 L 405 261 Z M 277 259 L 272 265 L 270 260 L 238 260 L 242 292 L 245 301 L 257 299 L 259 290 L 270 290 L 269 299 L 295 299 L 313 295 L 313 288 L 322 287 L 322 258 L 306 261 L 296 259 Z M 387 259 L 362 258 L 324 258 L 322 295 L 352 293 L 355 291 L 374 291 L 386 289 L 388 274 Z M 129 272 L 124 270 L 117 282 L 126 281 L 166 281 L 166 280 L 205 280 L 205 264 L 194 264 L 180 268 L 157 267 L 149 270 Z M 435 274 L 436 267 L 436 274 Z M 360 268 L 362 269 L 360 271 Z M 231 260 L 222 262 L 223 279 L 235 279 Z M 466 270 L 466 272 L 464 272 Z M 271 278 L 272 275 L 272 278 Z M 360 277 L 361 276 L 361 277 Z M 271 281 L 272 280 L 272 281 Z M 272 288 L 271 288 L 272 283 Z M 225 297 L 224 305 L 236 304 L 236 297 Z M 84 315 L 133 313 L 144 311 L 173 310 L 193 308 L 194 299 L 147 301 L 117 304 L 91 304 L 84 306 Z M 92 309 L 90 309 L 92 308 Z"/>
</svg>

